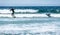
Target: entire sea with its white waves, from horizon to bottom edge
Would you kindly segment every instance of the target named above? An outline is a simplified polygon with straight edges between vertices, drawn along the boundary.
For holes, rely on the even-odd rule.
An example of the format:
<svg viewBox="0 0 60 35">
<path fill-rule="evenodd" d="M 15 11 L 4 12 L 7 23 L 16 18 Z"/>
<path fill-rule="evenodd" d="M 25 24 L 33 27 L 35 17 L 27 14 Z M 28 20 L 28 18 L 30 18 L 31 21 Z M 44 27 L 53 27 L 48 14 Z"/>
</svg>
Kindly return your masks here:
<svg viewBox="0 0 60 35">
<path fill-rule="evenodd" d="M 10 8 L 15 9 L 15 14 L 21 14 L 17 15 L 20 17 L 10 17 Z M 44 12 L 39 11 L 40 9 Z M 60 14 L 57 9 L 60 12 L 60 6 L 2 6 L 0 7 L 0 35 L 60 35 Z M 52 17 L 47 17 L 46 13 L 52 14 Z"/>
</svg>

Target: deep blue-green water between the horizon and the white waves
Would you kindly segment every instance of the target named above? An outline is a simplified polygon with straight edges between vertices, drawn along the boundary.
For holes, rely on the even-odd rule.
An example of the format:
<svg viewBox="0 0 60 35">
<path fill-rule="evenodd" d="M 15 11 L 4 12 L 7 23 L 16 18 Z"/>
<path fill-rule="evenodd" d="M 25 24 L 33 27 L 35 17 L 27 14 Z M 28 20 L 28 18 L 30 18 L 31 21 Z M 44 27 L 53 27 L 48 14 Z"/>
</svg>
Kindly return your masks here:
<svg viewBox="0 0 60 35">
<path fill-rule="evenodd" d="M 35 9 L 36 13 L 60 13 L 60 6 L 0 6 L 0 9 Z M 57 11 L 58 10 L 58 11 Z"/>
</svg>

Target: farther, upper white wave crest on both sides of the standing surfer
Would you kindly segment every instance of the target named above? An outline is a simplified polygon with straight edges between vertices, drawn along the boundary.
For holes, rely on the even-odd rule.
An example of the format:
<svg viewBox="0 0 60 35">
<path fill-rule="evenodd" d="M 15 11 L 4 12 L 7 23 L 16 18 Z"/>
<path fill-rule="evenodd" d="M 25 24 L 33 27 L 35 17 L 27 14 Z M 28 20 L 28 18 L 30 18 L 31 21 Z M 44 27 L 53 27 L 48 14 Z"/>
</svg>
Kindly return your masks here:
<svg viewBox="0 0 60 35">
<path fill-rule="evenodd" d="M 35 9 L 15 9 L 15 12 L 38 12 Z M 0 13 L 12 13 L 9 9 L 0 9 Z"/>
</svg>

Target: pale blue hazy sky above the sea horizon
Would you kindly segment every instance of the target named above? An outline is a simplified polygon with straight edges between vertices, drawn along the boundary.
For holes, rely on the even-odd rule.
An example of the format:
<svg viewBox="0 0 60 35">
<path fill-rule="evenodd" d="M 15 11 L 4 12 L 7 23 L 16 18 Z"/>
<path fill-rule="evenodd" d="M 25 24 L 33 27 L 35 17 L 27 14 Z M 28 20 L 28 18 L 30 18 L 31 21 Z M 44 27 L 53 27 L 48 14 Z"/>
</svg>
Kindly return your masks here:
<svg viewBox="0 0 60 35">
<path fill-rule="evenodd" d="M 0 0 L 0 6 L 60 6 L 60 0 Z"/>
</svg>

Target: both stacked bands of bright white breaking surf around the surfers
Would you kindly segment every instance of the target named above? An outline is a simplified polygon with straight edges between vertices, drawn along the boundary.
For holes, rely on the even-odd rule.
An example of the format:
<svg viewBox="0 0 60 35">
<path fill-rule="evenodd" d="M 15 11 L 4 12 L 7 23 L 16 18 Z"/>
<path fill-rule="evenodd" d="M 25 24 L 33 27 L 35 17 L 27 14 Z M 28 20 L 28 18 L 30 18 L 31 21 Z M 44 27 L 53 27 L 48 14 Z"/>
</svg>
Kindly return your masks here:
<svg viewBox="0 0 60 35">
<path fill-rule="evenodd" d="M 15 9 L 16 13 L 19 14 L 15 14 L 16 17 L 48 17 L 46 14 L 47 13 L 43 13 L 43 14 L 38 14 L 39 10 L 37 9 Z M 25 14 L 24 14 L 25 12 Z M 26 14 L 26 12 L 28 13 L 32 13 L 32 14 Z M 0 17 L 12 17 L 11 15 L 12 11 L 10 11 L 10 9 L 0 9 Z M 23 14 L 22 14 L 23 13 Z M 33 14 L 36 13 L 36 14 Z M 52 17 L 60 17 L 60 14 L 51 14 Z"/>
</svg>

